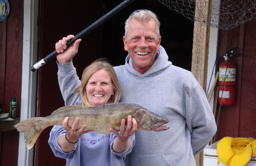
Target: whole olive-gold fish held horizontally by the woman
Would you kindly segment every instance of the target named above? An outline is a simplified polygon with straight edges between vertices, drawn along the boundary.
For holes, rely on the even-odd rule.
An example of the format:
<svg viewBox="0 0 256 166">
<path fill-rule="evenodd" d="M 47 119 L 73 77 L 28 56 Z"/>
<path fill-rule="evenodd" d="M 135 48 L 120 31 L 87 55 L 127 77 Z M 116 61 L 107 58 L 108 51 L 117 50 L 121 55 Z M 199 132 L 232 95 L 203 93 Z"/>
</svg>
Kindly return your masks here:
<svg viewBox="0 0 256 166">
<path fill-rule="evenodd" d="M 93 130 L 100 134 L 109 134 L 110 128 L 120 130 L 121 121 L 131 115 L 137 121 L 137 131 L 165 131 L 169 129 L 164 124 L 169 120 L 149 111 L 148 109 L 132 103 L 110 103 L 94 107 L 70 105 L 61 107 L 47 117 L 32 117 L 14 125 L 17 131 L 24 133 L 25 145 L 31 149 L 41 132 L 48 126 L 63 125 L 65 117 L 69 117 L 68 126 L 72 127 L 74 120 L 79 118 L 76 129 L 84 124 L 86 130 Z"/>
</svg>

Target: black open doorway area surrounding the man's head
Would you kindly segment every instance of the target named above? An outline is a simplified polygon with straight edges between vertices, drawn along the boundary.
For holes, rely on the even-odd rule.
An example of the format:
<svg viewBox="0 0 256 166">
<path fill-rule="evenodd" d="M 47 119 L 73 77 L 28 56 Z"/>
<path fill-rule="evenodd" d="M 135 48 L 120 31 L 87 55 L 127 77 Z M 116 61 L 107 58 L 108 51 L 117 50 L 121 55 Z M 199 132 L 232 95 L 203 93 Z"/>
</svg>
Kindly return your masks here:
<svg viewBox="0 0 256 166">
<path fill-rule="evenodd" d="M 121 0 L 103 0 L 103 14 L 112 10 Z M 194 22 L 181 16 L 156 0 L 137 0 L 119 11 L 102 25 L 102 57 L 107 57 L 113 65 L 124 64 L 127 52 L 124 50 L 124 23 L 137 9 L 148 9 L 156 13 L 160 20 L 161 45 L 169 60 L 176 66 L 191 71 Z"/>
</svg>

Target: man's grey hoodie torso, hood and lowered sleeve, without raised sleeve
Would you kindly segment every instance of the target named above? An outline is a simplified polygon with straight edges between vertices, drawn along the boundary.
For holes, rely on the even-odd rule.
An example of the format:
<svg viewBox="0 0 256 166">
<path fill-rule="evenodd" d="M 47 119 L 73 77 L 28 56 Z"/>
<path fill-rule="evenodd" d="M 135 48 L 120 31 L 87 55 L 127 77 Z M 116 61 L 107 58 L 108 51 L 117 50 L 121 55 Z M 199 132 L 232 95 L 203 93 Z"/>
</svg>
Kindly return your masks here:
<svg viewBox="0 0 256 166">
<path fill-rule="evenodd" d="M 139 104 L 167 118 L 163 132 L 137 131 L 129 166 L 195 166 L 216 132 L 216 123 L 204 90 L 193 74 L 172 65 L 161 46 L 156 62 L 141 74 L 128 55 L 125 65 L 114 67 L 122 88 L 120 102 Z"/>
</svg>

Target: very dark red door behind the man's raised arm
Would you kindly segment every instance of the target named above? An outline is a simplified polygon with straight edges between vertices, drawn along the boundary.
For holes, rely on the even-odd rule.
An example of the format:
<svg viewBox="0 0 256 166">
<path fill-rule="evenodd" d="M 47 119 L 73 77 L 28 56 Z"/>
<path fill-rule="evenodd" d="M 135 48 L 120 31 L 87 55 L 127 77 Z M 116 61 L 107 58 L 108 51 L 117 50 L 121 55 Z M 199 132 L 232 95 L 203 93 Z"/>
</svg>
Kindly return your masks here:
<svg viewBox="0 0 256 166">
<path fill-rule="evenodd" d="M 68 34 L 78 34 L 102 16 L 102 1 L 40 0 L 39 60 L 55 50 L 55 43 Z M 101 57 L 102 26 L 81 41 L 79 53 L 73 59 L 77 75 L 86 65 Z M 57 76 L 56 58 L 38 69 L 37 117 L 46 117 L 64 106 Z M 66 160 L 55 157 L 48 145 L 52 126 L 47 127 L 36 141 L 35 165 L 65 165 Z"/>
</svg>

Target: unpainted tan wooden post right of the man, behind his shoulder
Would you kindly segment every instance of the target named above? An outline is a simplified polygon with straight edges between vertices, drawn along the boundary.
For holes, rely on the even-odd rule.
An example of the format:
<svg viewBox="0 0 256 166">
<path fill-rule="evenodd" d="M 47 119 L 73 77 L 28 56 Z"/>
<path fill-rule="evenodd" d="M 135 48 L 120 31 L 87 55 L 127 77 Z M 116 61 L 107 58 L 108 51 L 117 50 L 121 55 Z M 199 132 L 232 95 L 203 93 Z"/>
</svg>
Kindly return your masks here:
<svg viewBox="0 0 256 166">
<path fill-rule="evenodd" d="M 205 4 L 204 4 L 205 3 Z M 201 8 L 202 6 L 208 6 Z M 209 53 L 209 38 L 210 26 L 202 25 L 207 23 L 208 16 L 211 13 L 211 0 L 196 0 L 194 35 L 193 35 L 193 50 L 192 50 L 192 67 L 191 72 L 194 74 L 196 80 L 206 92 L 207 85 L 207 67 L 208 67 L 208 53 Z M 196 166 L 203 166 L 204 155 L 203 151 L 195 156 Z"/>
</svg>

